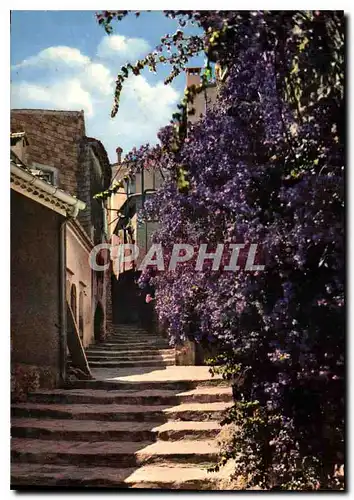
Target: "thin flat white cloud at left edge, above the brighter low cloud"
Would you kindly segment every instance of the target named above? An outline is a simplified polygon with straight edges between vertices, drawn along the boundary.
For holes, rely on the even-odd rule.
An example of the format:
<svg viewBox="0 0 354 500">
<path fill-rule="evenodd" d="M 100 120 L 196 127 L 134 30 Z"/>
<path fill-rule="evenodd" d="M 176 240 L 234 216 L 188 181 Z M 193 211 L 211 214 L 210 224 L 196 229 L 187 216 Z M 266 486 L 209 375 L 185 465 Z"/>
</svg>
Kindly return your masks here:
<svg viewBox="0 0 354 500">
<path fill-rule="evenodd" d="M 24 59 L 13 68 L 23 68 L 26 66 L 42 66 L 62 63 L 68 66 L 85 66 L 89 64 L 90 58 L 83 55 L 79 49 L 73 47 L 57 46 L 48 47 L 41 50 L 35 56 Z"/>
</svg>

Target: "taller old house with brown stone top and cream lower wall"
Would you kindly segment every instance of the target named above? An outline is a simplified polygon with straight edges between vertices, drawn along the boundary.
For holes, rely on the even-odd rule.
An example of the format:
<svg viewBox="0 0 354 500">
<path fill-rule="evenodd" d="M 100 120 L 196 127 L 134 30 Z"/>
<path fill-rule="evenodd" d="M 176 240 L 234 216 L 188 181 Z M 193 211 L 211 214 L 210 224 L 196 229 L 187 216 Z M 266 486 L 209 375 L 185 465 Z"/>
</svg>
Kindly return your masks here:
<svg viewBox="0 0 354 500">
<path fill-rule="evenodd" d="M 105 207 L 93 198 L 110 184 L 107 153 L 86 136 L 83 111 L 12 110 L 11 132 L 13 151 L 35 175 L 85 203 L 65 225 L 65 245 L 66 297 L 86 347 L 105 337 L 111 316 L 110 271 L 93 271 L 89 264 L 93 248 L 107 241 Z M 98 258 L 108 260 L 103 253 Z"/>
</svg>

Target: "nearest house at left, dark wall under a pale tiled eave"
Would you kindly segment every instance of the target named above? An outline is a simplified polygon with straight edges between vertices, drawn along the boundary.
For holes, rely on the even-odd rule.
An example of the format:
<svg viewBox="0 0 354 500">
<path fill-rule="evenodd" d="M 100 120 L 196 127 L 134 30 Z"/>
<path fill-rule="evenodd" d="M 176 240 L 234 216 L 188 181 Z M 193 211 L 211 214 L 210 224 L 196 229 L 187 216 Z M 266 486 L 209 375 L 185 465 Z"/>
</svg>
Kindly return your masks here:
<svg viewBox="0 0 354 500">
<path fill-rule="evenodd" d="M 24 133 L 11 137 L 21 156 Z M 66 370 L 66 236 L 85 204 L 31 171 L 13 151 L 11 172 L 11 372 L 18 389 L 53 387 Z M 18 394 L 17 394 L 18 395 Z"/>
</svg>

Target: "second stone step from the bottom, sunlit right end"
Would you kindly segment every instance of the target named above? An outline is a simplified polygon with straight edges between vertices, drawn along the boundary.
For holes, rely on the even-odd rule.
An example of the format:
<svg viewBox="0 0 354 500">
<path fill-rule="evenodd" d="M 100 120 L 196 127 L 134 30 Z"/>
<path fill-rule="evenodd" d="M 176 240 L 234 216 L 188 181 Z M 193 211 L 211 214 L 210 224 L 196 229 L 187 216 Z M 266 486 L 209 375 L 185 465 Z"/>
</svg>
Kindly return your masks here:
<svg viewBox="0 0 354 500">
<path fill-rule="evenodd" d="M 212 465 L 218 457 L 214 440 L 129 442 L 129 441 L 51 441 L 11 439 L 11 457 L 16 462 L 37 464 L 135 467 L 148 464 Z"/>
</svg>

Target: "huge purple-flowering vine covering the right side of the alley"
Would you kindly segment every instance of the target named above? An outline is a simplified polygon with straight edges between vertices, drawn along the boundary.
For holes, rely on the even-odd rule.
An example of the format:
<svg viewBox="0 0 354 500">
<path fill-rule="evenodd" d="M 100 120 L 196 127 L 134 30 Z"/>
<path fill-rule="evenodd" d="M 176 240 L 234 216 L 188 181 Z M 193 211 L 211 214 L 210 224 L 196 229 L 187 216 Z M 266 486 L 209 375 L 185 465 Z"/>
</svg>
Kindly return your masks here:
<svg viewBox="0 0 354 500">
<path fill-rule="evenodd" d="M 99 19 L 107 27 L 127 14 Z M 225 418 L 236 430 L 220 464 L 237 458 L 235 474 L 248 487 L 341 488 L 334 470 L 344 461 L 344 15 L 166 15 L 204 34 L 188 40 L 179 29 L 144 63 L 122 69 L 114 113 L 128 70 L 154 69 L 171 45 L 177 52 L 163 62 L 172 76 L 204 50 L 228 78 L 177 147 L 170 125 L 159 145 L 128 156 L 135 168 L 158 165 L 167 174 L 145 207 L 160 223 L 154 241 L 167 249 L 255 242 L 266 267 L 235 275 L 184 265 L 145 272 L 141 286 L 155 286 L 173 342 L 217 344 L 211 364 L 238 380 Z"/>
</svg>

